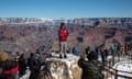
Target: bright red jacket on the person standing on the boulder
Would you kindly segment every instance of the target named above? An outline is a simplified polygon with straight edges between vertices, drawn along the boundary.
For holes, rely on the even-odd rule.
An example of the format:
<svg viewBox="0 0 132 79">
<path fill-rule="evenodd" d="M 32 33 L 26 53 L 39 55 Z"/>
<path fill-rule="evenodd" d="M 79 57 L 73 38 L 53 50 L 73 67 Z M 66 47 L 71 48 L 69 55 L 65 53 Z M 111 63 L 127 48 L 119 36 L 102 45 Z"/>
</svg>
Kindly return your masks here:
<svg viewBox="0 0 132 79">
<path fill-rule="evenodd" d="M 68 31 L 66 29 L 59 29 L 58 34 L 59 34 L 59 41 L 61 42 L 66 42 L 67 41 Z"/>
</svg>

